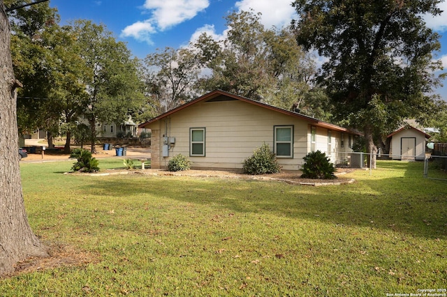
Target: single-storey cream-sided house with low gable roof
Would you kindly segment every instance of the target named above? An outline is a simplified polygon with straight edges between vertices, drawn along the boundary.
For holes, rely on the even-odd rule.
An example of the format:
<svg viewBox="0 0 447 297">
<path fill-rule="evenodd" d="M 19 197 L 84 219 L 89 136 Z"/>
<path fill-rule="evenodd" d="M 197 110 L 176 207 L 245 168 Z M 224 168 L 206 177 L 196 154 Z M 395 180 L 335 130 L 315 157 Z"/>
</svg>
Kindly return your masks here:
<svg viewBox="0 0 447 297">
<path fill-rule="evenodd" d="M 182 154 L 193 168 L 241 169 L 264 142 L 284 170 L 298 170 L 311 151 L 325 152 L 337 164 L 349 158 L 359 133 L 263 102 L 212 91 L 139 128 L 152 130 L 153 169 L 166 168 Z"/>
</svg>

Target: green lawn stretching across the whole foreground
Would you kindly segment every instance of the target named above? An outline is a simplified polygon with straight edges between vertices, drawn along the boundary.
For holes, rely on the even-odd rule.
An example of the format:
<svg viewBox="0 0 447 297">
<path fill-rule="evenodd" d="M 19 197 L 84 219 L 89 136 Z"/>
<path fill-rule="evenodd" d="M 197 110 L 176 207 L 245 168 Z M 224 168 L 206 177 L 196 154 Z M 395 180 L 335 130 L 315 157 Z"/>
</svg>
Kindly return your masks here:
<svg viewBox="0 0 447 297">
<path fill-rule="evenodd" d="M 1 296 L 386 296 L 446 288 L 447 182 L 378 162 L 351 185 L 67 176 L 22 164 L 29 222 L 98 261 L 0 280 Z M 101 168 L 122 160 L 101 160 Z"/>
</svg>

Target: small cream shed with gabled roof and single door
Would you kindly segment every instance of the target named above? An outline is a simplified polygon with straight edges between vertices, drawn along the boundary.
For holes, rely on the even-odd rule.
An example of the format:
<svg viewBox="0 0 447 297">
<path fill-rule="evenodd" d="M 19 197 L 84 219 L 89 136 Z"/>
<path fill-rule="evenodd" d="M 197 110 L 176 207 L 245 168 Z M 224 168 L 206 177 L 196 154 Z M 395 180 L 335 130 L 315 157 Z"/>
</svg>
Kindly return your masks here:
<svg viewBox="0 0 447 297">
<path fill-rule="evenodd" d="M 426 139 L 430 135 L 412 125 L 395 130 L 390 138 L 390 158 L 394 160 L 424 160 Z"/>
</svg>

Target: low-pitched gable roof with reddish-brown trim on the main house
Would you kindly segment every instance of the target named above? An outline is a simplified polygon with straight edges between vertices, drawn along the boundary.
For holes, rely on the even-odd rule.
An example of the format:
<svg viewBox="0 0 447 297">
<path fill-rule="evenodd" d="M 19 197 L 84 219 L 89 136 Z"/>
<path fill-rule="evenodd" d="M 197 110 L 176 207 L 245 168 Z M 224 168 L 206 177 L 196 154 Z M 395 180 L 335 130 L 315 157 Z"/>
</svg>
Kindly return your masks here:
<svg viewBox="0 0 447 297">
<path fill-rule="evenodd" d="M 159 116 L 154 117 L 153 119 L 142 123 L 140 125 L 138 125 L 138 128 L 145 128 L 147 125 L 149 125 L 150 123 L 154 123 L 155 121 L 159 121 L 161 119 L 166 118 L 167 116 L 170 116 L 171 114 L 175 114 L 176 112 L 179 112 L 182 109 L 185 109 L 186 107 L 189 107 L 191 105 L 197 104 L 198 102 L 208 102 L 208 101 L 223 101 L 223 100 L 240 100 L 240 101 L 244 101 L 247 102 L 249 104 L 252 105 L 257 105 L 259 107 L 263 107 L 265 109 L 270 109 L 274 112 L 279 112 L 281 114 L 286 114 L 288 116 L 293 116 L 295 118 L 298 119 L 302 119 L 305 120 L 309 123 L 311 123 L 312 125 L 315 125 L 317 127 L 321 127 L 321 128 L 326 128 L 326 129 L 330 129 L 330 130 L 335 130 L 335 131 L 339 131 L 339 132 L 349 132 L 352 134 L 356 134 L 356 135 L 361 135 L 361 133 L 356 132 L 354 130 L 349 130 L 346 128 L 342 128 L 338 125 L 333 125 L 331 123 L 327 123 L 325 121 L 320 121 L 318 119 L 314 119 L 310 116 L 305 116 L 304 114 L 298 114 L 297 112 L 291 112 L 290 110 L 286 110 L 286 109 L 282 109 L 279 107 L 274 107 L 272 105 L 268 105 L 265 104 L 263 102 L 259 102 L 253 99 L 249 99 L 249 98 L 245 98 L 242 96 L 237 96 L 233 93 L 228 93 L 226 91 L 222 91 L 222 90 L 214 90 L 211 91 L 210 93 L 206 93 L 203 96 L 200 96 L 199 98 L 196 98 L 194 100 L 191 100 L 187 103 L 185 103 L 184 105 L 180 105 L 179 107 L 176 107 L 175 109 L 171 109 L 168 112 L 165 112 L 164 114 L 160 114 Z"/>
</svg>

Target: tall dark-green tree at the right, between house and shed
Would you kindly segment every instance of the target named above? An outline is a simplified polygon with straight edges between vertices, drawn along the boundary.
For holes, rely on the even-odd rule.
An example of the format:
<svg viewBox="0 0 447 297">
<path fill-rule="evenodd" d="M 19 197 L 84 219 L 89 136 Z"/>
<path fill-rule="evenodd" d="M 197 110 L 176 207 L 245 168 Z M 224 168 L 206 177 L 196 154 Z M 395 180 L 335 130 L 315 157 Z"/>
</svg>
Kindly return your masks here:
<svg viewBox="0 0 447 297">
<path fill-rule="evenodd" d="M 293 2 L 299 20 L 293 22 L 305 50 L 318 50 L 329 60 L 318 83 L 335 104 L 334 116 L 365 134 L 373 153 L 374 135 L 397 128 L 403 119 L 430 108 L 427 96 L 439 84 L 432 60 L 439 36 L 425 26 L 424 14 L 439 15 L 438 0 Z"/>
</svg>

